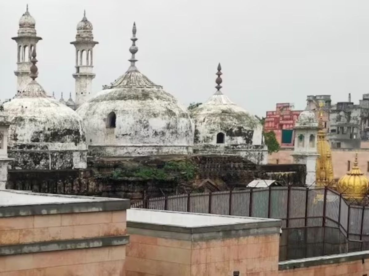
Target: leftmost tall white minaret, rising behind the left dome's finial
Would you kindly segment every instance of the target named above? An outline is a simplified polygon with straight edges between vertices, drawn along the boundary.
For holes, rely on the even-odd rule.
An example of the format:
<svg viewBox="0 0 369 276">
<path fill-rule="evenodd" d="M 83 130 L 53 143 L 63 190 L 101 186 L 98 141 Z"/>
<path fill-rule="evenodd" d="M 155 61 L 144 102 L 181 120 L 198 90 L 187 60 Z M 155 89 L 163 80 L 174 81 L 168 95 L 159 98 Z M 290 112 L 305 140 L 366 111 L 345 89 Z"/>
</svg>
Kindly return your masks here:
<svg viewBox="0 0 369 276">
<path fill-rule="evenodd" d="M 15 36 L 17 42 L 17 70 L 14 74 L 17 76 L 17 93 L 22 91 L 24 86 L 30 82 L 31 53 L 36 48 L 38 40 L 42 38 L 36 35 L 36 21 L 28 12 L 28 5 L 25 13 L 19 20 L 18 36 Z"/>
</svg>

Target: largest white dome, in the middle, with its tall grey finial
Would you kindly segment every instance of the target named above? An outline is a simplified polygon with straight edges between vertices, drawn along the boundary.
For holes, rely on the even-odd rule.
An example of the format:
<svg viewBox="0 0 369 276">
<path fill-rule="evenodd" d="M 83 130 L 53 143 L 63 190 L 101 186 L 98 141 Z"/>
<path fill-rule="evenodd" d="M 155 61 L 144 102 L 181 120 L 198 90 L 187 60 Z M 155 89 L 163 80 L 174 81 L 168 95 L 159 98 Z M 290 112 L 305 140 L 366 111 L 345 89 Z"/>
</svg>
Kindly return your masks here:
<svg viewBox="0 0 369 276">
<path fill-rule="evenodd" d="M 138 50 L 135 35 L 134 24 L 131 66 L 127 72 L 77 109 L 85 124 L 90 154 L 191 153 L 192 119 L 174 96 L 138 71 L 135 66 Z"/>
</svg>

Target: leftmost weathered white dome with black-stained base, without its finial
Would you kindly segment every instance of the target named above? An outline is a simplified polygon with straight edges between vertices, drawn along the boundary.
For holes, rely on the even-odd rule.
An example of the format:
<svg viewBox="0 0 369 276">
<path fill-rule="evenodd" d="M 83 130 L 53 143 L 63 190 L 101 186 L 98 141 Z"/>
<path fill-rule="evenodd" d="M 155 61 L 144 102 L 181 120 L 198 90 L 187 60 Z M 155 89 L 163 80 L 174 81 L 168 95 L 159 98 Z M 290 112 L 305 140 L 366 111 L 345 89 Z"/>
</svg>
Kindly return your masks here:
<svg viewBox="0 0 369 276">
<path fill-rule="evenodd" d="M 87 145 L 82 120 L 69 107 L 46 95 L 36 81 L 4 103 L 10 120 L 12 169 L 86 167 Z"/>
</svg>

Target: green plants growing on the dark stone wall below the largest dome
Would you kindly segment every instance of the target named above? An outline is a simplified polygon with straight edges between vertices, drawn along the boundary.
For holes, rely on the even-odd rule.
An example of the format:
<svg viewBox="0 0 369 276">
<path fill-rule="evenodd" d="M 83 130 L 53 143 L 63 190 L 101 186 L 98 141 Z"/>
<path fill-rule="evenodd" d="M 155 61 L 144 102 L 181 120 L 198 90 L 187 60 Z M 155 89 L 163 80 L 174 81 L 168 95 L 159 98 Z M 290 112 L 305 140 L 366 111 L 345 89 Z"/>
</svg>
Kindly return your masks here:
<svg viewBox="0 0 369 276">
<path fill-rule="evenodd" d="M 196 176 L 197 168 L 189 160 L 164 162 L 161 167 L 142 165 L 130 169 L 115 169 L 111 172 L 110 178 L 120 180 L 127 177 L 138 177 L 142 180 L 191 180 Z M 103 178 L 101 176 L 100 178 Z"/>
</svg>

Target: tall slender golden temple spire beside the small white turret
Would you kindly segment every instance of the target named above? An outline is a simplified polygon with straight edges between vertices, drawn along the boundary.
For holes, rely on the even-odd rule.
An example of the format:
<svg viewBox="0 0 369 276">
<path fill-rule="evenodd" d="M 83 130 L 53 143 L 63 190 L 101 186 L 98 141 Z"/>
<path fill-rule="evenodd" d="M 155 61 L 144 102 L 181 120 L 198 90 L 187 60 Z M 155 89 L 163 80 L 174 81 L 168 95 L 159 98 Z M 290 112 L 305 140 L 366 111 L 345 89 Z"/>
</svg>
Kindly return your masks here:
<svg viewBox="0 0 369 276">
<path fill-rule="evenodd" d="M 319 103 L 319 130 L 318 130 L 318 139 L 317 139 L 317 150 L 318 150 L 318 158 L 316 164 L 316 185 L 318 187 L 334 187 L 334 178 L 333 178 L 333 165 L 332 165 L 332 153 L 329 142 L 327 141 L 327 135 L 324 130 L 323 125 L 323 102 Z"/>
</svg>

